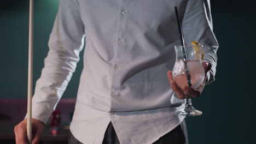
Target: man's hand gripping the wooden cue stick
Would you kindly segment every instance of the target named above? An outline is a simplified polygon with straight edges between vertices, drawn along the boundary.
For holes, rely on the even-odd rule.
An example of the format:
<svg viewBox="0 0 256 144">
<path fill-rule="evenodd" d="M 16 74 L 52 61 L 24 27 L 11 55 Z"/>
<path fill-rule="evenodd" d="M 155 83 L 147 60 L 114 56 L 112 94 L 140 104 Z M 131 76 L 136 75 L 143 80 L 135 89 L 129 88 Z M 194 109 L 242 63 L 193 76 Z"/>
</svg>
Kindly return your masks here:
<svg viewBox="0 0 256 144">
<path fill-rule="evenodd" d="M 32 118 L 32 144 L 39 142 L 39 136 L 43 130 L 44 124 L 35 118 Z M 14 127 L 16 144 L 28 144 L 27 139 L 27 118 Z"/>
</svg>

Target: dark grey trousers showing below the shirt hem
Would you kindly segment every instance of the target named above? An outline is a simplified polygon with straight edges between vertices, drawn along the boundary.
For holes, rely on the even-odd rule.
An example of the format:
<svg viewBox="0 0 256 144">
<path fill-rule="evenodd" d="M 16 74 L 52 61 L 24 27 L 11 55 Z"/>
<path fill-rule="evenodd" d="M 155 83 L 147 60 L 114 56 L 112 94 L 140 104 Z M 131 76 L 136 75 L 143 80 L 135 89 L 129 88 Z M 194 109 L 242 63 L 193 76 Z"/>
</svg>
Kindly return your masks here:
<svg viewBox="0 0 256 144">
<path fill-rule="evenodd" d="M 69 144 L 83 144 L 83 143 L 75 139 L 75 137 L 71 134 L 69 139 Z M 89 144 L 89 143 L 84 143 L 84 144 Z M 115 133 L 114 127 L 111 122 L 109 123 L 108 128 L 105 132 L 102 144 L 120 144 L 117 134 Z M 188 133 L 187 133 L 187 127 L 186 127 L 185 121 L 183 121 L 180 125 L 178 125 L 169 133 L 160 137 L 159 140 L 155 141 L 152 144 L 188 144 Z"/>
</svg>

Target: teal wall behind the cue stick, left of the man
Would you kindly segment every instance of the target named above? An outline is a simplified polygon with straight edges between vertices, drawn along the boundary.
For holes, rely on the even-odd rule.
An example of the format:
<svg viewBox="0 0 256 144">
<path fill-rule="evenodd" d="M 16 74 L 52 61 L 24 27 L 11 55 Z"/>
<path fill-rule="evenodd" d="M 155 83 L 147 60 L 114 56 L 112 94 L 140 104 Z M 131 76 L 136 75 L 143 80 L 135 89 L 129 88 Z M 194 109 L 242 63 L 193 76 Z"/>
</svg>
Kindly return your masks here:
<svg viewBox="0 0 256 144">
<path fill-rule="evenodd" d="M 0 9 L 1 83 L 0 98 L 27 97 L 28 1 L 5 2 Z M 57 13 L 59 0 L 34 3 L 33 86 L 40 77 L 48 52 L 48 39 Z M 77 93 L 82 62 L 68 85 L 63 98 Z"/>
</svg>

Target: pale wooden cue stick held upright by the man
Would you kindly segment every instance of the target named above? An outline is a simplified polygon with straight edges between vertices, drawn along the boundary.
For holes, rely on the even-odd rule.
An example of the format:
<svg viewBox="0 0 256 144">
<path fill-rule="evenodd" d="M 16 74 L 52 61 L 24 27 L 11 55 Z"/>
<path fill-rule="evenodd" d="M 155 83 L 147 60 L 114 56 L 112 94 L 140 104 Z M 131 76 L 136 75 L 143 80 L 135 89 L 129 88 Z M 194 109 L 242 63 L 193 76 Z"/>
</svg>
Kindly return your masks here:
<svg viewBox="0 0 256 144">
<path fill-rule="evenodd" d="M 33 21 L 34 0 L 30 0 L 30 21 L 28 35 L 28 87 L 27 87 L 27 138 L 32 143 L 32 88 L 33 88 Z"/>
</svg>

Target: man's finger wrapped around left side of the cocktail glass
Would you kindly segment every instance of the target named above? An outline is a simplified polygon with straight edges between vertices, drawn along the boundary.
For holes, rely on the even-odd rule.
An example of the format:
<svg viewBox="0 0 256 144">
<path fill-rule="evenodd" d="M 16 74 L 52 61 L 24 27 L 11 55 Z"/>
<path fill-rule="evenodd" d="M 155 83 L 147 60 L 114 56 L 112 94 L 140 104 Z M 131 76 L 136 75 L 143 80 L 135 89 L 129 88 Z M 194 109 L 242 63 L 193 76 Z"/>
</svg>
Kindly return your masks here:
<svg viewBox="0 0 256 144">
<path fill-rule="evenodd" d="M 179 87 L 177 85 L 177 83 L 173 80 L 173 77 L 172 77 L 172 71 L 168 71 L 167 72 L 167 77 L 168 77 L 168 80 L 170 82 L 170 85 L 171 85 L 171 88 L 172 90 L 177 94 L 177 97 L 179 99 L 185 99 L 185 93 L 184 91 L 181 89 L 181 87 Z"/>
</svg>

